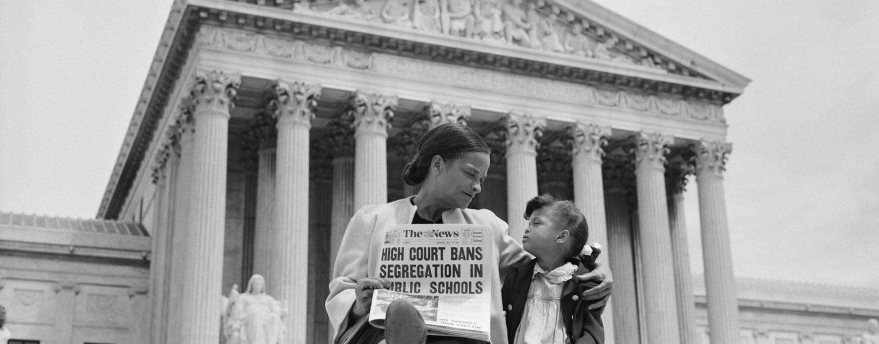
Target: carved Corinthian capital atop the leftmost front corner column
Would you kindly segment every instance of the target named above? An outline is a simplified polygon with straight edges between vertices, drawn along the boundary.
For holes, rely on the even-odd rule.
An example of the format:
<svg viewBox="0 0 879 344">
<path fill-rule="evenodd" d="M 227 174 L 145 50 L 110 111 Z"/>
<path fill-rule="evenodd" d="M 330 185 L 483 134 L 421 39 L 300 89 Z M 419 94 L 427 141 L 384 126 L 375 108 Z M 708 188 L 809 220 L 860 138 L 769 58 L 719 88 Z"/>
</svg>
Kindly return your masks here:
<svg viewBox="0 0 879 344">
<path fill-rule="evenodd" d="M 216 70 L 199 72 L 190 91 L 194 111 L 221 111 L 228 113 L 234 106 L 241 85 L 241 75 L 227 75 Z"/>
</svg>

